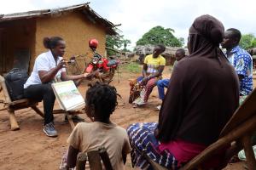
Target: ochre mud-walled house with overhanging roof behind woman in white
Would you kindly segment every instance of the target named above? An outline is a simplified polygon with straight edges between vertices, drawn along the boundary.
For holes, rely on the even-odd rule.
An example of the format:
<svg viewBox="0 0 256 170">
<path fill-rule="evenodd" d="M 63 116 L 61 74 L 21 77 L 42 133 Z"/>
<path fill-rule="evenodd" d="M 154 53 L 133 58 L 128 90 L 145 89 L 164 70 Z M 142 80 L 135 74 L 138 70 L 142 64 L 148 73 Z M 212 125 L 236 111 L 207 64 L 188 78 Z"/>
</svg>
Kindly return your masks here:
<svg viewBox="0 0 256 170">
<path fill-rule="evenodd" d="M 32 71 L 35 58 L 45 51 L 44 37 L 60 36 L 67 42 L 66 57 L 86 54 L 90 38 L 105 54 L 106 35 L 115 35 L 113 23 L 92 10 L 89 3 L 65 8 L 0 15 L 0 74 L 13 67 Z"/>
</svg>

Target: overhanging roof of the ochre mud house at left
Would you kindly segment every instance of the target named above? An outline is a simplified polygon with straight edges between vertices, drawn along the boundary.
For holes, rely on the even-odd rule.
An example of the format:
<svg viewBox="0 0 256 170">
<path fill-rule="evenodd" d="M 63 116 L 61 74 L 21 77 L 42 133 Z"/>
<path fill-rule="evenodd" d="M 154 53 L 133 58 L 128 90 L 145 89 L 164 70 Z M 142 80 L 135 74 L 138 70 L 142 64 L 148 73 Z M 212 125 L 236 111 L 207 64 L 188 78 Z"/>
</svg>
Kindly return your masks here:
<svg viewBox="0 0 256 170">
<path fill-rule="evenodd" d="M 100 16 L 99 14 L 96 14 L 96 12 L 92 8 L 90 8 L 89 3 L 82 3 L 64 8 L 34 10 L 15 14 L 0 14 L 0 23 L 9 20 L 21 20 L 52 16 L 58 17 L 61 16 L 61 14 L 66 14 L 73 11 L 81 11 L 91 22 L 98 23 L 104 26 L 107 29 L 107 33 L 109 35 L 117 34 L 117 32 L 113 30 L 113 27 L 115 27 L 113 23 L 102 18 L 102 16 Z"/>
</svg>

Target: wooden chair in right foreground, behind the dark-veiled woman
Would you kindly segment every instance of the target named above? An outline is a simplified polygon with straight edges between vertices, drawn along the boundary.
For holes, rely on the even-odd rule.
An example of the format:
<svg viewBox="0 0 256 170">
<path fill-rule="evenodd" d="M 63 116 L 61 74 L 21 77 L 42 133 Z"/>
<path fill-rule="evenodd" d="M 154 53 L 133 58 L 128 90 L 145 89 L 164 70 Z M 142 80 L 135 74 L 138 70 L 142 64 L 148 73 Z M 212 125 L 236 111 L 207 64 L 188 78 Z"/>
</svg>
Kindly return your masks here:
<svg viewBox="0 0 256 170">
<path fill-rule="evenodd" d="M 253 153 L 252 136 L 256 132 L 256 88 L 245 99 L 244 103 L 235 111 L 220 133 L 218 141 L 203 150 L 201 154 L 185 164 L 181 170 L 203 169 L 202 165 L 212 158 L 218 151 L 225 151 L 225 158 L 219 169 L 226 167 L 232 156 L 236 156 L 240 150 L 245 150 L 247 167 L 249 170 L 256 169 L 256 161 Z M 227 146 L 230 146 L 227 149 Z M 152 161 L 146 154 L 143 156 L 152 165 L 154 170 L 166 170 L 160 164 Z"/>
</svg>

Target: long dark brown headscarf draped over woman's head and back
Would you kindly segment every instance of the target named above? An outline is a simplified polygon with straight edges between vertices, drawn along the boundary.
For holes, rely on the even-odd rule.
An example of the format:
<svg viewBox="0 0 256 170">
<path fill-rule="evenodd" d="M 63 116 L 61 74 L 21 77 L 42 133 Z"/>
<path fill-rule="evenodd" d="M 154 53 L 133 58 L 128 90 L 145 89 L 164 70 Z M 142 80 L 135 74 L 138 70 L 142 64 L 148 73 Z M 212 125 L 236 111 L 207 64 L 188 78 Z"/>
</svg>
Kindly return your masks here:
<svg viewBox="0 0 256 170">
<path fill-rule="evenodd" d="M 236 110 L 239 82 L 218 48 L 222 23 L 210 15 L 195 19 L 189 29 L 189 57 L 177 63 L 166 92 L 156 137 L 212 144 Z"/>
</svg>

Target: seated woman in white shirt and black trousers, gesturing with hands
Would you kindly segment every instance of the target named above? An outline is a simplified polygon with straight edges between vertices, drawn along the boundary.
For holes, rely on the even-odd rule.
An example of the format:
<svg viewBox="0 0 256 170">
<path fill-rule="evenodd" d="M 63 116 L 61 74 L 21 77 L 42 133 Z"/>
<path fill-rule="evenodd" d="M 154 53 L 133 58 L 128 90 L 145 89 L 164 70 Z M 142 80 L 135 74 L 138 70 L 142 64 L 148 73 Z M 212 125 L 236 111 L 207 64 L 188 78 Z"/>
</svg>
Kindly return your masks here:
<svg viewBox="0 0 256 170">
<path fill-rule="evenodd" d="M 55 78 L 62 81 L 78 80 L 88 78 L 90 75 L 84 73 L 76 76 L 68 76 L 63 59 L 66 42 L 61 37 L 45 37 L 44 47 L 49 51 L 39 54 L 35 60 L 33 71 L 24 84 L 24 95 L 27 99 L 44 101 L 44 133 L 49 137 L 56 137 L 58 134 L 54 126 L 54 116 L 52 114 L 55 105 L 55 94 L 51 88 L 51 83 Z"/>
</svg>

